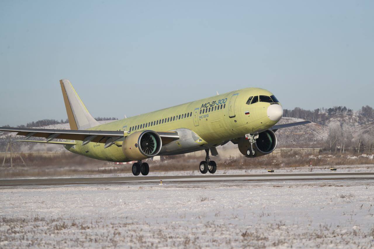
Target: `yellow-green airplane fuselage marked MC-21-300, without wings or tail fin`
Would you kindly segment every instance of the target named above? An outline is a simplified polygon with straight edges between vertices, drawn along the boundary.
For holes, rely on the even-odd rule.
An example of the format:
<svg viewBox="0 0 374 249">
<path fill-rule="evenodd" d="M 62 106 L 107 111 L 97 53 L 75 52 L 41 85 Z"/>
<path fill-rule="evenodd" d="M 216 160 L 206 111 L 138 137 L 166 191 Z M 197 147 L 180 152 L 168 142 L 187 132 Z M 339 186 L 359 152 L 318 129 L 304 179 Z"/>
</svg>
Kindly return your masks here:
<svg viewBox="0 0 374 249">
<path fill-rule="evenodd" d="M 250 97 L 261 95 L 273 94 L 265 89 L 245 88 L 101 124 L 88 130 L 126 131 L 127 136 L 141 130 L 177 131 L 180 139 L 163 145 L 159 155 L 189 153 L 218 146 L 248 133 L 259 133 L 274 126 L 282 116 L 279 114 L 282 110 L 279 103 L 275 114 L 270 110 L 272 103 L 258 101 L 247 104 Z M 122 141 L 117 141 L 108 148 L 104 148 L 102 143 L 89 142 L 82 145 L 82 141 L 76 142 L 76 145 L 65 145 L 65 148 L 99 160 L 132 161 L 123 153 Z"/>
</svg>

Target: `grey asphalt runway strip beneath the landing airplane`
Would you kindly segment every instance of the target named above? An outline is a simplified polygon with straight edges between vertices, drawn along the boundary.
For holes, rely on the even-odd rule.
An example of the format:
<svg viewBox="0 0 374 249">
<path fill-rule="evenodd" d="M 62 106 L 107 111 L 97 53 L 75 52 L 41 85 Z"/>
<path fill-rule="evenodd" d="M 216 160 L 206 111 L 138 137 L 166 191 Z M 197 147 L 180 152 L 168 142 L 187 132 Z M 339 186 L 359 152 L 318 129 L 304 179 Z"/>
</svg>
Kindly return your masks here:
<svg viewBox="0 0 374 249">
<path fill-rule="evenodd" d="M 223 182 L 272 182 L 272 181 L 373 181 L 374 172 L 359 173 L 294 173 L 294 174 L 247 174 L 247 175 L 179 175 L 179 176 L 127 176 L 92 178 L 49 178 L 0 180 L 0 187 L 43 185 L 91 185 L 91 184 L 163 184 L 223 183 Z"/>
</svg>

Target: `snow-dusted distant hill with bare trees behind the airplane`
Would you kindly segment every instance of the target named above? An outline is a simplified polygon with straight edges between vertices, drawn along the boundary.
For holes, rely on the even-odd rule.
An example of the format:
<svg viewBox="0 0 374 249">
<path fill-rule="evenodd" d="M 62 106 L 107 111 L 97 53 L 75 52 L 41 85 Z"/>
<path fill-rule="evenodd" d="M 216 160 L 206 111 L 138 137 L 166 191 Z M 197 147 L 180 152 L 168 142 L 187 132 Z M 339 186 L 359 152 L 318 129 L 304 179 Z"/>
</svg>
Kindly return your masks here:
<svg viewBox="0 0 374 249">
<path fill-rule="evenodd" d="M 344 147 L 345 150 L 350 148 L 358 151 L 358 147 L 360 147 L 360 152 L 371 153 L 374 151 L 374 111 L 371 107 L 362 107 L 359 111 L 352 111 L 346 107 L 321 108 L 314 111 L 301 108 L 284 110 L 283 118 L 279 121 L 279 124 L 303 120 L 310 120 L 312 123 L 279 129 L 276 132 L 278 147 L 326 148 L 332 151 L 338 150 L 340 147 Z M 112 120 L 101 122 L 107 123 L 112 122 Z M 70 129 L 68 123 L 49 124 L 36 128 Z M 15 139 L 15 133 L 11 134 L 12 139 Z M 6 145 L 8 138 L 9 133 L 0 132 L 0 151 L 5 150 L 4 145 Z M 23 147 L 24 150 L 31 151 L 64 150 L 60 145 L 20 144 L 19 148 Z M 225 147 L 232 147 L 233 144 L 231 144 L 228 143 Z"/>
</svg>

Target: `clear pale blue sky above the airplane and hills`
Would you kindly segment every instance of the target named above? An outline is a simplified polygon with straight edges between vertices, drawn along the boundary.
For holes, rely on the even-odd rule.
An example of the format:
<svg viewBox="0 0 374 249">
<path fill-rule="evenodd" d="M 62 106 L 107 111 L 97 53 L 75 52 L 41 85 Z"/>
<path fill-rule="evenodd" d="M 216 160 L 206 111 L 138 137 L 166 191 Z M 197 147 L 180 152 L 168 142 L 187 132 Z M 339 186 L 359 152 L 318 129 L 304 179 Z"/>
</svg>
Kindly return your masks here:
<svg viewBox="0 0 374 249">
<path fill-rule="evenodd" d="M 374 106 L 374 1 L 0 1 L 0 125 L 262 87 L 284 108 Z"/>
</svg>

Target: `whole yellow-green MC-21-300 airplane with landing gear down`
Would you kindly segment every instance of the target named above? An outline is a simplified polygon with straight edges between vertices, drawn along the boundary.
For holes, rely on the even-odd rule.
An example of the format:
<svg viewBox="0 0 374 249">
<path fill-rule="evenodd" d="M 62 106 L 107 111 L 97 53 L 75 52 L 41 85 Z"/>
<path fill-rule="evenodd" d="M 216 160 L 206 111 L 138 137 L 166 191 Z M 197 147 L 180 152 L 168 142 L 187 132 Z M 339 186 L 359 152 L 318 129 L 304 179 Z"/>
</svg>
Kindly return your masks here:
<svg viewBox="0 0 374 249">
<path fill-rule="evenodd" d="M 26 137 L 17 141 L 60 144 L 94 159 L 135 161 L 135 176 L 149 173 L 142 160 L 200 150 L 206 153 L 200 172 L 215 173 L 217 164 L 209 151 L 218 156 L 217 146 L 231 141 L 245 157 L 263 156 L 275 150 L 278 129 L 311 123 L 276 125 L 283 115 L 281 103 L 268 90 L 250 87 L 102 124 L 91 116 L 69 80 L 60 80 L 60 85 L 70 130 L 0 127 L 0 131 Z"/>
</svg>

